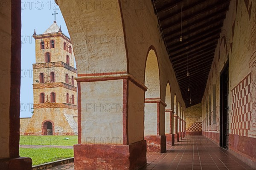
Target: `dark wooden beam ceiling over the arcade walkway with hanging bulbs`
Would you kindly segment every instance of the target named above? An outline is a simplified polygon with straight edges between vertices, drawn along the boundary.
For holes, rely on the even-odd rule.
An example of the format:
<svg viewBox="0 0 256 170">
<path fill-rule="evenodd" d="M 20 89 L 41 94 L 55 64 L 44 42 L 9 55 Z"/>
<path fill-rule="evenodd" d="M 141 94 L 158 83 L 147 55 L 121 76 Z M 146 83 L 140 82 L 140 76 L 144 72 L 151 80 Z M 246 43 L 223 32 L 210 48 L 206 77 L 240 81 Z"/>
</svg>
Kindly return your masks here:
<svg viewBox="0 0 256 170">
<path fill-rule="evenodd" d="M 201 103 L 230 0 L 152 0 L 152 3 L 186 107 Z"/>
</svg>

